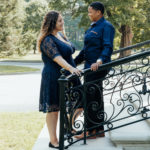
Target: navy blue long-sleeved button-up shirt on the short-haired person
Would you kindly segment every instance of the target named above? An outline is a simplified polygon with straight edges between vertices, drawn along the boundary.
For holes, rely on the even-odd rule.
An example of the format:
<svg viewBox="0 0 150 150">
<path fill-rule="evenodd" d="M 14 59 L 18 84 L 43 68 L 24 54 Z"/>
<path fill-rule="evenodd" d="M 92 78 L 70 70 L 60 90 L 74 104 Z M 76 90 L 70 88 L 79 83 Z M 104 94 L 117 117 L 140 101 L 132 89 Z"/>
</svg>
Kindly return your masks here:
<svg viewBox="0 0 150 150">
<path fill-rule="evenodd" d="M 84 68 L 90 68 L 93 63 L 101 59 L 102 63 L 111 61 L 115 29 L 112 24 L 102 17 L 85 32 L 84 48 L 75 58 L 75 63 L 85 61 Z"/>
</svg>

